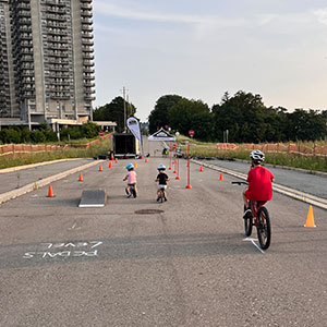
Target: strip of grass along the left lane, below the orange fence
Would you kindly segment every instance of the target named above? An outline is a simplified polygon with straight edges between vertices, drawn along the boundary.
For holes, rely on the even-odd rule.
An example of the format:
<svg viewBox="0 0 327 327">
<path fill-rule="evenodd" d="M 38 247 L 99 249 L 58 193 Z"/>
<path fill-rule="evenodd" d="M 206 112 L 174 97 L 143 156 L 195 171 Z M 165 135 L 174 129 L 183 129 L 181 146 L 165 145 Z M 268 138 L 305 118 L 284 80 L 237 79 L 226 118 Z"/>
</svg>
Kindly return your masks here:
<svg viewBox="0 0 327 327">
<path fill-rule="evenodd" d="M 84 143 L 87 142 L 85 142 L 84 140 Z M 0 157 L 0 169 L 36 164 L 36 162 L 52 161 L 58 159 L 94 158 L 100 154 L 108 154 L 109 149 L 110 149 L 110 138 L 105 138 L 100 143 L 90 145 L 88 148 L 69 147 L 66 149 L 61 149 L 61 150 L 44 152 L 37 154 L 31 153 L 31 154 L 14 156 L 14 157 Z"/>
</svg>

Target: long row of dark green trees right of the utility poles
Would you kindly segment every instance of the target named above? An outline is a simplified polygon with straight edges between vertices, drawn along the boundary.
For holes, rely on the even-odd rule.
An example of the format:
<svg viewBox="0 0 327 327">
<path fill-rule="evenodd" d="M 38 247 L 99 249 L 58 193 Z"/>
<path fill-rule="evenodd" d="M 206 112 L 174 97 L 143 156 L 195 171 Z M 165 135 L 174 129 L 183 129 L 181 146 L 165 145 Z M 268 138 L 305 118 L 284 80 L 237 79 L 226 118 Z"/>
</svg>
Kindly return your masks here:
<svg viewBox="0 0 327 327">
<path fill-rule="evenodd" d="M 160 97 L 148 117 L 149 132 L 170 128 L 201 141 L 262 143 L 316 141 L 327 137 L 327 110 L 266 107 L 259 95 L 225 93 L 221 102 L 209 108 L 202 100 L 179 95 Z"/>
</svg>

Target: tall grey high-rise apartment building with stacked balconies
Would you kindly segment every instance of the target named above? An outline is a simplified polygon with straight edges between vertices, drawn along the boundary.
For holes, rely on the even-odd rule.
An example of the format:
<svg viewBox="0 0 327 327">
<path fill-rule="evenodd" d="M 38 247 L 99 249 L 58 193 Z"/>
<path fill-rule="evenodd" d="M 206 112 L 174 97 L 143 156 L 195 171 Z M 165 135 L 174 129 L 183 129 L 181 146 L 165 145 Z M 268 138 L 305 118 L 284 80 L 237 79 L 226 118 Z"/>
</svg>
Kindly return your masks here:
<svg viewBox="0 0 327 327">
<path fill-rule="evenodd" d="M 29 126 L 92 119 L 92 2 L 0 0 L 0 119 Z"/>
</svg>

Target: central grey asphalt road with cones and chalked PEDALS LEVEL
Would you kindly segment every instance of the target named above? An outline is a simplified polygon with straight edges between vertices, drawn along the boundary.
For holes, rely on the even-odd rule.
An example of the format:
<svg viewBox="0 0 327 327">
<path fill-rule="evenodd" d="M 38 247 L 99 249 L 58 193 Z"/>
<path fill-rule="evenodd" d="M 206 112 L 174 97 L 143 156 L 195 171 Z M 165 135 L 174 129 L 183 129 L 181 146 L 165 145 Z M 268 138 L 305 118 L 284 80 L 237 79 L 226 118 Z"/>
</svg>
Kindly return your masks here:
<svg viewBox="0 0 327 327">
<path fill-rule="evenodd" d="M 136 161 L 135 199 L 126 162 L 0 206 L 0 326 L 326 326 L 326 210 L 304 228 L 308 206 L 275 193 L 263 254 L 243 241 L 234 178 L 191 165 L 186 190 L 181 160 L 158 204 L 156 167 L 169 159 Z M 107 205 L 78 208 L 85 189 L 105 189 Z"/>
</svg>

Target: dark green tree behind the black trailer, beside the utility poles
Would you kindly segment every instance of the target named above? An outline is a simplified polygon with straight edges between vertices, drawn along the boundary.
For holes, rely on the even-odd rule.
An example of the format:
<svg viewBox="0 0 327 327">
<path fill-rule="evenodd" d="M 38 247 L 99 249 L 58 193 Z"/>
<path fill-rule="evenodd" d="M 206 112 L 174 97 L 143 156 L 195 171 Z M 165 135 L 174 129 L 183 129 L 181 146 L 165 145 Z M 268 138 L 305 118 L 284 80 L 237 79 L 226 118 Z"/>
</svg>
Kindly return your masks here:
<svg viewBox="0 0 327 327">
<path fill-rule="evenodd" d="M 94 111 L 93 119 L 95 121 L 114 121 L 117 122 L 117 131 L 121 133 L 125 123 L 124 111 L 126 111 L 126 118 L 129 118 L 135 114 L 136 108 L 131 102 L 124 101 L 122 97 L 116 97 L 110 104 L 97 108 Z"/>
</svg>

